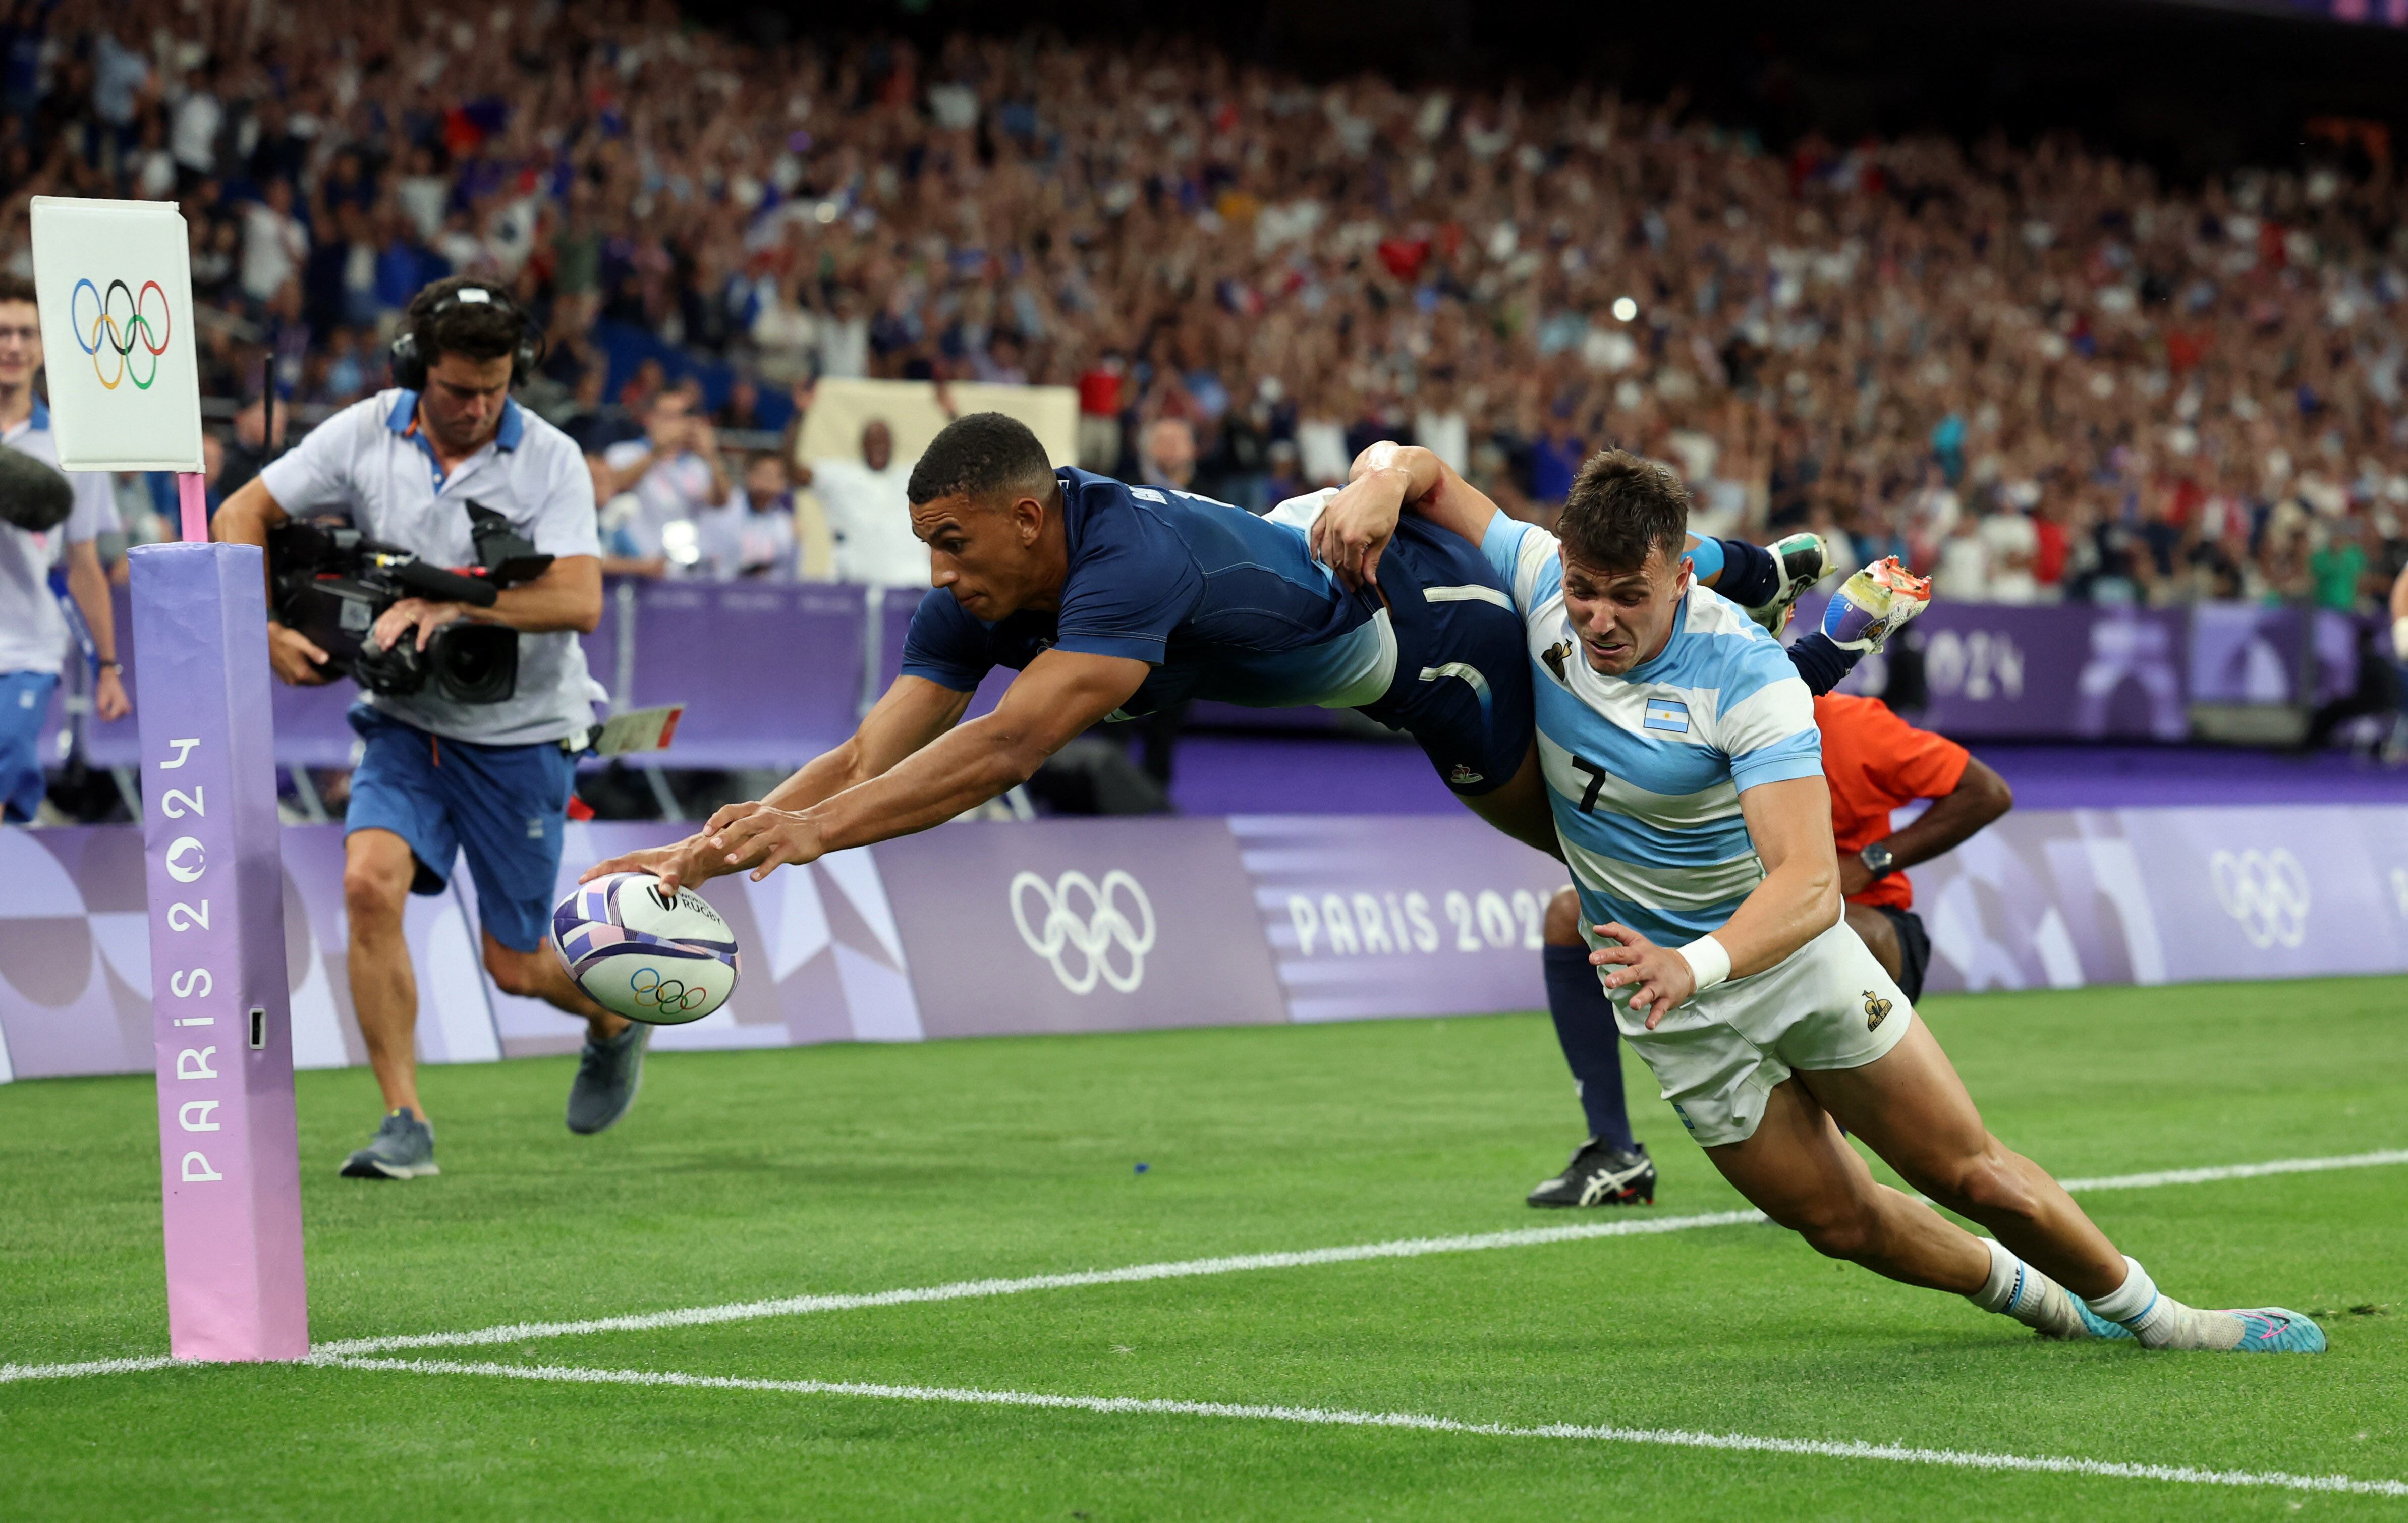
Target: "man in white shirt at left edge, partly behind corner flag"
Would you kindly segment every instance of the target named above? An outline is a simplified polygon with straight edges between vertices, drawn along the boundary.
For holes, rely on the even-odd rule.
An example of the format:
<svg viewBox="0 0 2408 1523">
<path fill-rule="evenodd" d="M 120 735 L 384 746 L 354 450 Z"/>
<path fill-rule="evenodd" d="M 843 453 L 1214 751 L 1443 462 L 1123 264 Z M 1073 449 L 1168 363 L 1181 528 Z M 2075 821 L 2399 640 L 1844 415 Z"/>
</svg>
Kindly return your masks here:
<svg viewBox="0 0 2408 1523">
<path fill-rule="evenodd" d="M 82 356 L 77 356 L 82 358 Z M 34 282 L 0 274 L 0 445 L 58 464 L 51 409 L 34 395 L 41 371 L 41 313 Z M 118 626 L 108 606 L 108 573 L 94 539 L 118 532 L 108 472 L 70 472 L 75 510 L 43 534 L 0 525 L 0 804 L 7 816 L 31 820 L 41 811 L 43 777 L 34 739 L 51 712 L 51 691 L 67 659 L 67 618 L 51 594 L 51 568 L 65 561 L 67 594 L 92 630 L 101 662 L 94 710 L 101 719 L 128 712 L 118 676 Z"/>
</svg>

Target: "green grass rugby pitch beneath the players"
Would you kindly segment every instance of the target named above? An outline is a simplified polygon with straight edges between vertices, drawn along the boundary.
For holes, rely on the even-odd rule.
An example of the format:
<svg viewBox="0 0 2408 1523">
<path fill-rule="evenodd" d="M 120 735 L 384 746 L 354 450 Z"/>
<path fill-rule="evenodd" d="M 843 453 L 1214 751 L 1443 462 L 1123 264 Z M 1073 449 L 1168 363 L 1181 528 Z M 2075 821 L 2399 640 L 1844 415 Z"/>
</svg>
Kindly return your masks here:
<svg viewBox="0 0 2408 1523">
<path fill-rule="evenodd" d="M 2408 979 L 1929 1018 L 2064 1177 L 2408 1148 Z M 1739 1205 L 1628 1068 L 1652 1213 Z M 443 1177 L 361 1184 L 335 1165 L 368 1073 L 301 1075 L 320 1343 L 1616 1220 L 1522 1205 L 1577 1140 L 1534 1015 L 669 1054 L 600 1138 L 561 1126 L 566 1061 L 424 1078 Z M 2331 1352 L 2042 1345 L 1705 1227 L 393 1357 L 2408 1480 L 2408 1167 L 2085 1203 L 2184 1299 L 2331 1311 Z M 0 1362 L 164 1352 L 164 1299 L 152 1083 L 0 1088 Z M 0 1518 L 185 1516 L 2408 1523 L 2408 1497 L 342 1367 L 0 1383 Z"/>
</svg>

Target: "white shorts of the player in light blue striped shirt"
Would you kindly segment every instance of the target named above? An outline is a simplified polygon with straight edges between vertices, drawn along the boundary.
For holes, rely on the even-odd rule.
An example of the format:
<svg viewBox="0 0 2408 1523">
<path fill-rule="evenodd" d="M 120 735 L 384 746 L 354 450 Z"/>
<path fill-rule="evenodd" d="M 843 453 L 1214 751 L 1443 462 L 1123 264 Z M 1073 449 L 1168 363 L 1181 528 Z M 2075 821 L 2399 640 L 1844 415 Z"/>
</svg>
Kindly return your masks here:
<svg viewBox="0 0 2408 1523">
<path fill-rule="evenodd" d="M 1582 934 L 1604 946 L 1587 926 Z M 1630 1013 L 1630 989 L 1609 996 L 1623 1037 L 1700 1148 L 1748 1140 L 1772 1085 L 1799 1068 L 1864 1068 L 1914 1020 L 1907 996 L 1845 919 L 1775 967 L 1707 989 L 1652 1032 L 1645 1015 Z"/>
</svg>

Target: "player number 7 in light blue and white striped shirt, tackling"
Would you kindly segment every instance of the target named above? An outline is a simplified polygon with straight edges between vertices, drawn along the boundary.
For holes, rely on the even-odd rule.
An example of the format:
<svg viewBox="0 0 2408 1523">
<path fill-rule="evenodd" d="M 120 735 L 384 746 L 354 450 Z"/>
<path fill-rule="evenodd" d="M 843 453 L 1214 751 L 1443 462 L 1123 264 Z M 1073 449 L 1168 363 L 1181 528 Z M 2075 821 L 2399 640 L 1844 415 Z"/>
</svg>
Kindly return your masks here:
<svg viewBox="0 0 2408 1523">
<path fill-rule="evenodd" d="M 1401 534 L 1411 503 L 1510 587 L 1589 962 L 1623 1037 L 1739 1193 L 1820 1254 L 1963 1294 L 2044 1338 L 2324 1350 L 2324 1331 L 2295 1311 L 2203 1311 L 2158 1292 L 2040 1165 L 1982 1126 L 1929 1027 L 1842 919 L 1813 703 L 1780 645 L 1683 568 L 1678 479 L 1621 450 L 1597 455 L 1548 534 L 1421 455 L 1353 481 L 1315 525 L 1315 549 L 1353 575 L 1365 549 Z M 1994 1237 L 1876 1184 L 1840 1126 Z"/>
</svg>

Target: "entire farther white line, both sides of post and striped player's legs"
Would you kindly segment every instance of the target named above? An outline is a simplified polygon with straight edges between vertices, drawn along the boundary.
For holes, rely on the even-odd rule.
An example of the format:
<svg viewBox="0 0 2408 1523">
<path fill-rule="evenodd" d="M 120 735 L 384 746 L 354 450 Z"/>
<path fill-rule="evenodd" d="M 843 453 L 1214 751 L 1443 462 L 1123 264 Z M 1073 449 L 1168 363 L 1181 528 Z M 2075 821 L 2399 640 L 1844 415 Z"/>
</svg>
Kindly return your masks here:
<svg viewBox="0 0 2408 1523">
<path fill-rule="evenodd" d="M 2264 1165 L 2220 1165 L 2211 1169 L 2162 1169 L 2155 1174 L 2109 1174 L 2102 1179 L 2066 1179 L 2068 1191 L 2133 1191 L 2160 1184 L 2213 1184 L 2218 1179 L 2259 1179 L 2264 1174 L 2321 1174 L 2329 1169 L 2374 1169 L 2408 1165 L 2408 1148 L 2384 1152 L 2350 1152 L 2343 1157 L 2290 1157 Z M 1428 1254 L 1479 1254 L 1486 1249 L 1529 1249 L 1541 1244 L 1584 1241 L 1592 1237 L 1647 1237 L 1657 1232 L 1688 1232 L 1693 1227 L 1739 1227 L 1763 1222 L 1758 1210 L 1712 1210 L 1681 1217 L 1618 1217 L 1611 1222 L 1572 1222 L 1563 1227 L 1522 1227 L 1517 1232 L 1479 1232 L 1459 1237 L 1406 1237 L 1380 1244 L 1348 1244 L 1336 1249 L 1303 1249 L 1291 1254 L 1235 1254 L 1221 1258 L 1182 1258 L 1173 1263 L 1132 1263 L 1108 1270 L 1076 1270 L 1062 1275 L 1023 1275 L 1019 1280 L 954 1280 L 949 1285 L 917 1285 L 905 1290 L 874 1290 L 855 1294 L 797 1294 L 768 1302 L 730 1302 L 720 1306 L 679 1306 L 672 1311 L 641 1311 L 628 1316 L 595 1316 L 585 1321 L 530 1321 L 498 1328 L 474 1328 L 467 1333 L 395 1333 L 385 1338 L 344 1338 L 320 1343 L 315 1357 L 380 1355 L 412 1347 L 479 1347 L 494 1343 L 523 1343 L 532 1338 L 578 1338 L 585 1333 L 648 1333 L 657 1328 L 698 1328 L 727 1321 L 759 1321 L 766 1316 L 807 1316 L 814 1311 L 860 1311 L 867 1306 L 903 1306 L 917 1302 L 966 1302 L 980 1297 L 1026 1294 L 1031 1290 L 1076 1290 L 1084 1285 L 1134 1285 L 1141 1280 L 1187 1280 L 1197 1275 L 1235 1275 L 1245 1270 L 1310 1268 L 1317 1263 L 1361 1263 L 1368 1258 L 1423 1258 Z M 87 1374 L 130 1374 L 164 1369 L 173 1359 L 92 1359 L 84 1364 L 0 1364 L 0 1383 L 43 1381 Z"/>
</svg>

